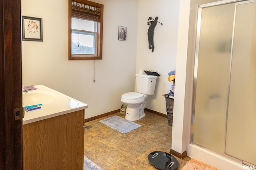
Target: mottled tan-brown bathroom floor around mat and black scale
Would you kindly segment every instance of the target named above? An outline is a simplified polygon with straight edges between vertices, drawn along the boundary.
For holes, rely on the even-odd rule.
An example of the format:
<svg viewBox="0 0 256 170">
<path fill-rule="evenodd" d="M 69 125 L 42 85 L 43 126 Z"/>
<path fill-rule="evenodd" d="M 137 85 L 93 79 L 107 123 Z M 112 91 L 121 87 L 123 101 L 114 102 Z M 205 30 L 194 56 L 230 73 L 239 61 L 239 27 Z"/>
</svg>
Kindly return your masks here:
<svg viewBox="0 0 256 170">
<path fill-rule="evenodd" d="M 146 117 L 134 121 L 141 127 L 122 134 L 99 121 L 114 115 L 86 122 L 85 126 L 97 127 L 84 130 L 84 155 L 103 170 L 156 170 L 148 161 L 148 154 L 153 151 L 170 152 L 172 127 L 166 117 L 145 111 Z M 94 124 L 96 123 L 96 124 Z M 190 158 L 177 158 L 180 170 Z"/>
</svg>

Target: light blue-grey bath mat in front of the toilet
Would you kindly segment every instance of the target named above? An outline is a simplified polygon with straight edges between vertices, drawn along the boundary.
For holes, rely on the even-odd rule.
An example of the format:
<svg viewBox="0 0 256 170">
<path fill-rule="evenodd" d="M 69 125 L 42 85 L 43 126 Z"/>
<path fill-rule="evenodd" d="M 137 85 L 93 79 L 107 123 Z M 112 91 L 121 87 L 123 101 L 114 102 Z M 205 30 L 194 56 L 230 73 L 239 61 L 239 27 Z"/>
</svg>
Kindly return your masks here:
<svg viewBox="0 0 256 170">
<path fill-rule="evenodd" d="M 104 125 L 107 125 L 121 133 L 128 133 L 138 127 L 141 127 L 141 125 L 119 116 L 108 117 L 100 120 L 100 123 L 103 123 Z"/>
</svg>

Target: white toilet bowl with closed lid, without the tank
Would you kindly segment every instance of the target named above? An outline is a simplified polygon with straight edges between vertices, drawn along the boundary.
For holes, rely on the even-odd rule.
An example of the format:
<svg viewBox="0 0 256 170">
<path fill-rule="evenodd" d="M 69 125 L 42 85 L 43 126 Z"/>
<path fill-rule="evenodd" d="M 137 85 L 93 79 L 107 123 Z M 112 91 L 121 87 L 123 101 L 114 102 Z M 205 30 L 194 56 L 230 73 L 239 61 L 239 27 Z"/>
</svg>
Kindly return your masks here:
<svg viewBox="0 0 256 170">
<path fill-rule="evenodd" d="M 146 98 L 148 95 L 144 95 L 137 92 L 124 93 L 121 97 L 121 101 L 126 105 L 125 119 L 129 121 L 138 121 L 146 116 L 144 109 L 146 106 Z"/>
</svg>

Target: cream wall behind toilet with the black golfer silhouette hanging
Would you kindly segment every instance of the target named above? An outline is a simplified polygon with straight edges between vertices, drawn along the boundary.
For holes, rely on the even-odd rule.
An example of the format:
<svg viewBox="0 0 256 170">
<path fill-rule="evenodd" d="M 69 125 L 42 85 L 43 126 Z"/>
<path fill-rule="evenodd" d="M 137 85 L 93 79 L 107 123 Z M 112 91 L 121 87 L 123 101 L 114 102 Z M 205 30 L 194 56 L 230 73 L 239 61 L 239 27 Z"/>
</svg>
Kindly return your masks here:
<svg viewBox="0 0 256 170">
<path fill-rule="evenodd" d="M 140 68 L 155 70 L 160 76 L 156 81 L 155 94 L 147 98 L 146 108 L 166 114 L 165 97 L 173 82 L 168 81 L 168 73 L 176 68 L 176 48 L 178 33 L 179 0 L 139 0 L 138 38 L 136 73 Z M 158 16 L 154 30 L 154 52 L 148 49 L 149 17 Z"/>
</svg>

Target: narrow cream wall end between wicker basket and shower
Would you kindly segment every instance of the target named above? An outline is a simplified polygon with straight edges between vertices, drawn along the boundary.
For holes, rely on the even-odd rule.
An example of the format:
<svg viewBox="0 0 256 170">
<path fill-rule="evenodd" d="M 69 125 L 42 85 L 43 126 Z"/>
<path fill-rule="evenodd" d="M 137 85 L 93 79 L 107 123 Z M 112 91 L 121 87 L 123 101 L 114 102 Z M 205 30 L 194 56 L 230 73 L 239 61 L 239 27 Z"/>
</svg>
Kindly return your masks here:
<svg viewBox="0 0 256 170">
<path fill-rule="evenodd" d="M 186 86 L 190 78 L 190 58 L 187 57 L 188 45 L 188 23 L 189 23 L 189 0 L 180 0 L 179 6 L 179 30 L 177 40 L 177 58 L 176 58 L 176 81 L 175 81 L 175 100 L 172 124 L 172 151 L 184 154 L 186 151 L 187 125 L 190 107 L 186 103 L 186 95 L 189 93 Z"/>
</svg>

